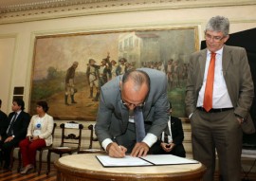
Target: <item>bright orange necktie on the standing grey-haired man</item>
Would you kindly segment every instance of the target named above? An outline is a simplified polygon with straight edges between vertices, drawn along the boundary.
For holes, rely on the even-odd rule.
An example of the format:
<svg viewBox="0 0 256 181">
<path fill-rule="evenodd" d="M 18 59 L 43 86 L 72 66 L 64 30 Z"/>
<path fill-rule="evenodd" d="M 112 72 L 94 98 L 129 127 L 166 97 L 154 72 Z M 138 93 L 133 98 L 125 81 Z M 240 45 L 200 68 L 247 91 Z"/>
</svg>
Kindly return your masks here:
<svg viewBox="0 0 256 181">
<path fill-rule="evenodd" d="M 213 81 L 214 81 L 214 68 L 215 68 L 215 55 L 216 53 L 210 53 L 210 65 L 208 69 L 205 97 L 203 107 L 207 112 L 212 108 L 212 92 L 213 92 Z"/>
</svg>

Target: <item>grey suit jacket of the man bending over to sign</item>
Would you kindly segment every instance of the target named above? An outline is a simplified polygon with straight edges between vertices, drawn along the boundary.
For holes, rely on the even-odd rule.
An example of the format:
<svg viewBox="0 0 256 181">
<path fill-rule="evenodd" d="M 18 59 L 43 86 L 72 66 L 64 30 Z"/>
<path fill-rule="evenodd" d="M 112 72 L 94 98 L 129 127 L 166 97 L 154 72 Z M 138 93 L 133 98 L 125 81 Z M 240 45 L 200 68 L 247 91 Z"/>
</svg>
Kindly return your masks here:
<svg viewBox="0 0 256 181">
<path fill-rule="evenodd" d="M 163 72 L 141 68 L 150 77 L 150 92 L 143 106 L 146 132 L 159 136 L 167 125 L 169 102 L 167 79 Z M 100 142 L 125 133 L 128 126 L 129 110 L 122 104 L 118 76 L 101 87 L 101 102 L 97 115 L 96 135 Z M 150 125 L 150 126 L 147 126 Z"/>
</svg>

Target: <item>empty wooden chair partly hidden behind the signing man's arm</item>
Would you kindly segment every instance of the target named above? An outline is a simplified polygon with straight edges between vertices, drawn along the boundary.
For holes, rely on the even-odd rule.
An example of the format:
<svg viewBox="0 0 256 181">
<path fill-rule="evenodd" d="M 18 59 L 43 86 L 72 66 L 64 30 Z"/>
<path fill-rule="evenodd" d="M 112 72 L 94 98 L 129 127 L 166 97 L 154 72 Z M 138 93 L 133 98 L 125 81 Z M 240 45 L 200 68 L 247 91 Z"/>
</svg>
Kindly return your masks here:
<svg viewBox="0 0 256 181">
<path fill-rule="evenodd" d="M 101 149 L 93 148 L 93 143 L 99 141 L 97 137 L 94 137 L 94 131 L 95 131 L 94 126 L 95 126 L 94 124 L 90 124 L 88 126 L 88 130 L 90 130 L 89 148 L 79 151 L 78 154 L 92 154 L 92 153 L 103 154 L 103 153 L 105 153 L 105 151 L 102 147 L 101 147 Z"/>
</svg>

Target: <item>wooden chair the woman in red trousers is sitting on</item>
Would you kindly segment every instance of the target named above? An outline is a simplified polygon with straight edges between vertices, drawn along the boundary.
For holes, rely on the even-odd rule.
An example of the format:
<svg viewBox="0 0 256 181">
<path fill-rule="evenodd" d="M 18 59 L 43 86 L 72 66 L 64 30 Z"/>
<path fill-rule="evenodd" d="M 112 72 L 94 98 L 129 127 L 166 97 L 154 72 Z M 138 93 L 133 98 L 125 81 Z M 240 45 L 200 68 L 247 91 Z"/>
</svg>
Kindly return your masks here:
<svg viewBox="0 0 256 181">
<path fill-rule="evenodd" d="M 53 124 L 53 129 L 52 129 L 52 142 L 54 140 L 54 134 L 55 134 L 55 128 L 56 128 L 57 124 L 54 123 Z M 39 168 L 38 168 L 38 175 L 40 175 L 41 173 L 41 170 L 42 170 L 42 157 L 43 157 L 43 152 L 44 151 L 47 151 L 49 148 L 52 147 L 52 144 L 49 145 L 49 146 L 46 146 L 46 147 L 43 147 L 43 148 L 39 148 L 37 149 L 36 151 L 39 152 Z M 19 165 L 18 165 L 18 168 L 17 168 L 17 172 L 20 172 L 21 171 L 21 166 L 22 166 L 22 157 L 21 157 L 21 151 L 19 150 L 18 152 L 18 158 L 19 158 Z M 34 163 L 34 167 L 35 167 L 35 171 L 36 171 L 36 163 Z"/>
</svg>

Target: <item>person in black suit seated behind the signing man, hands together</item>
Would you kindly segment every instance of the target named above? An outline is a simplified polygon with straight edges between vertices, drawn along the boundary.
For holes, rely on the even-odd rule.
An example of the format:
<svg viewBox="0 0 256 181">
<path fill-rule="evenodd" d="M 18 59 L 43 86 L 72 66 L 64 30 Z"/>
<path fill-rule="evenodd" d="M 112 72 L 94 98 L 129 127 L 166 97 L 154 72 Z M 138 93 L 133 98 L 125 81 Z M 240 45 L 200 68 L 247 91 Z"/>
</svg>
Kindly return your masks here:
<svg viewBox="0 0 256 181">
<path fill-rule="evenodd" d="M 186 157 L 186 152 L 182 144 L 184 132 L 180 118 L 172 117 L 172 103 L 170 101 L 170 116 L 166 129 L 153 145 L 151 154 L 174 154 Z M 171 131 L 171 132 L 170 132 Z"/>
</svg>

